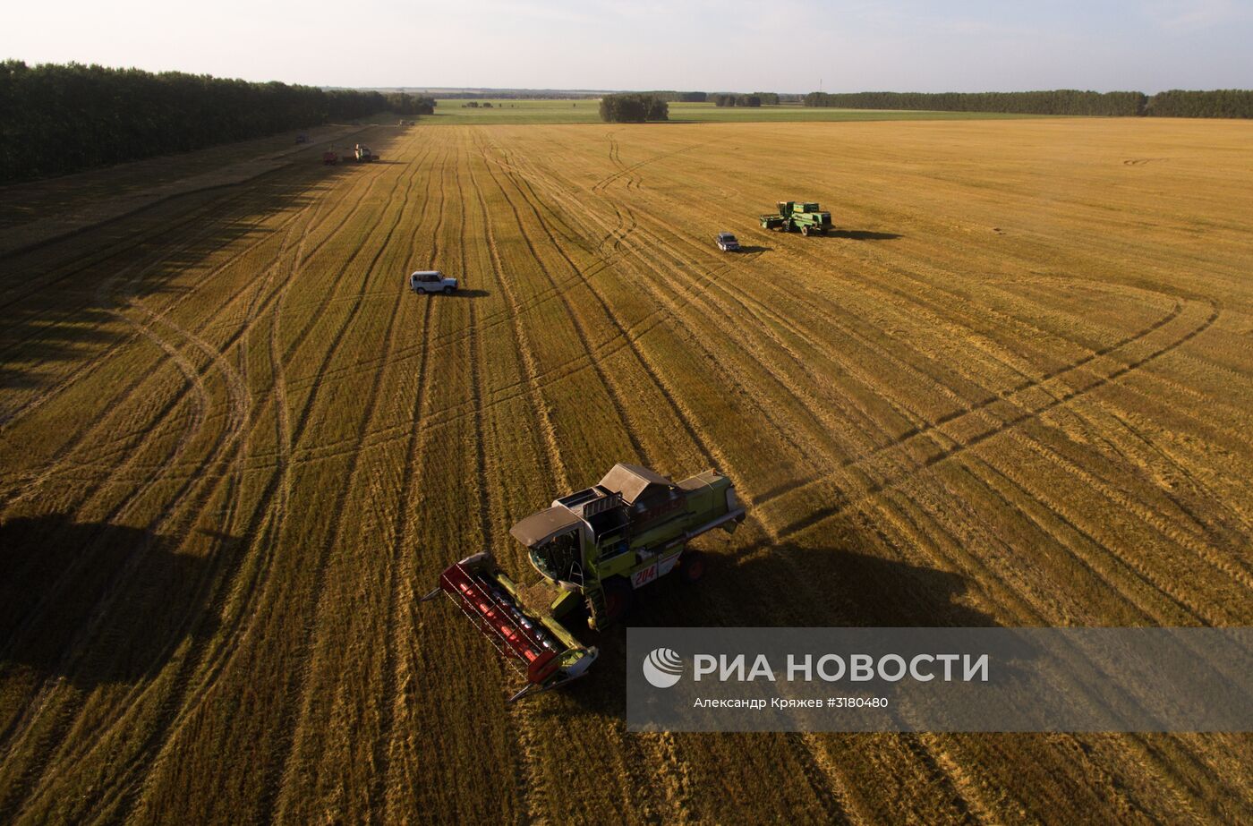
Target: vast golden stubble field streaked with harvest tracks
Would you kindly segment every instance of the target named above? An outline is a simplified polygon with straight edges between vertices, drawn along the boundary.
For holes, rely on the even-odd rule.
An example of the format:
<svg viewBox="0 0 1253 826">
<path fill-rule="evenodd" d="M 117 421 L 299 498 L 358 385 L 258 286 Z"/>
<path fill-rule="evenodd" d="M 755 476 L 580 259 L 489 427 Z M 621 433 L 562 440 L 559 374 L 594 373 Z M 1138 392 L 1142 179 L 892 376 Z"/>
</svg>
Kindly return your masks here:
<svg viewBox="0 0 1253 826">
<path fill-rule="evenodd" d="M 621 629 L 506 711 L 415 602 L 632 460 L 751 503 L 635 623 L 1249 624 L 1253 124 L 370 139 L 0 259 L 0 820 L 1253 818 L 1247 735 L 629 735 Z"/>
</svg>

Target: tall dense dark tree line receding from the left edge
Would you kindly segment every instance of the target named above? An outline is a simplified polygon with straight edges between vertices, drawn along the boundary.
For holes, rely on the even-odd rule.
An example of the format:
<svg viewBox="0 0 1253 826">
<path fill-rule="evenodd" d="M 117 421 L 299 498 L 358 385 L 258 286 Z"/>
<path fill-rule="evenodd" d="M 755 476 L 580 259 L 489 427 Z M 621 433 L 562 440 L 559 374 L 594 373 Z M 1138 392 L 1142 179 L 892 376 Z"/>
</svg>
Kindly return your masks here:
<svg viewBox="0 0 1253 826">
<path fill-rule="evenodd" d="M 0 180 L 90 169 L 363 118 L 430 98 L 249 83 L 182 71 L 0 63 Z"/>
</svg>

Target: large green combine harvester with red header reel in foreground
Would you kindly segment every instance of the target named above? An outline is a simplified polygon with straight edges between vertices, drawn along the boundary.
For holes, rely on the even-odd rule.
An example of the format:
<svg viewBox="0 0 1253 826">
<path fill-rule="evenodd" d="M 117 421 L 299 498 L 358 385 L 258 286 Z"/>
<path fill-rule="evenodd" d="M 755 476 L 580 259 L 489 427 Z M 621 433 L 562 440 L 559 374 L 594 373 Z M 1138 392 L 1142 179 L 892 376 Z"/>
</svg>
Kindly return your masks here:
<svg viewBox="0 0 1253 826">
<path fill-rule="evenodd" d="M 714 528 L 733 533 L 743 520 L 734 485 L 713 470 L 675 484 L 618 464 L 509 531 L 543 577 L 534 585 L 519 585 L 481 553 L 446 568 L 422 602 L 442 590 L 506 659 L 521 663 L 526 684 L 512 703 L 578 679 L 596 659 L 563 617 L 585 605 L 588 627 L 600 630 L 625 615 L 637 588 L 674 570 L 695 582 L 704 565 L 687 543 Z"/>
</svg>

